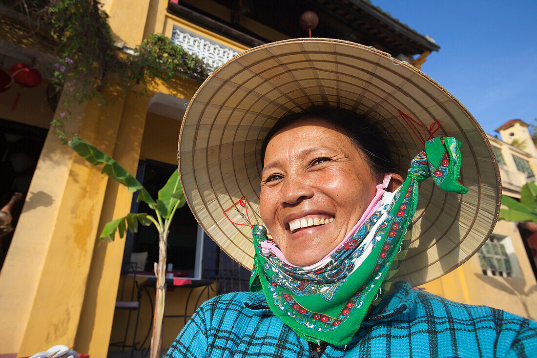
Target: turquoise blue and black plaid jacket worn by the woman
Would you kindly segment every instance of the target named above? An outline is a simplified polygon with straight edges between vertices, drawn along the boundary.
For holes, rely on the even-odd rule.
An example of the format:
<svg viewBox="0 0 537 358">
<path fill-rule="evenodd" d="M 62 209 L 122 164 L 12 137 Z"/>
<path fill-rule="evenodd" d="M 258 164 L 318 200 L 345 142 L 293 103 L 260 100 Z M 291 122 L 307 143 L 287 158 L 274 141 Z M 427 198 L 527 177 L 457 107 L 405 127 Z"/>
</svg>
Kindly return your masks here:
<svg viewBox="0 0 537 358">
<path fill-rule="evenodd" d="M 323 344 L 319 353 L 274 316 L 263 293 L 236 292 L 205 302 L 166 357 L 527 357 L 537 356 L 537 322 L 401 281 L 349 345 Z"/>
</svg>

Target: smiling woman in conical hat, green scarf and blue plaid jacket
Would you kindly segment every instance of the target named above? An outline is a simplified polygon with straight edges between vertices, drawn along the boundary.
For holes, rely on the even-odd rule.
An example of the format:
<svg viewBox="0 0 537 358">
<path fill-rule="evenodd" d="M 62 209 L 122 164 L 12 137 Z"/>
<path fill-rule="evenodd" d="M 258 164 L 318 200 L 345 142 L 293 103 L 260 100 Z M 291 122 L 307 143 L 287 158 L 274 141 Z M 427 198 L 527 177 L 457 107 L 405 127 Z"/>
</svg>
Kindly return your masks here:
<svg viewBox="0 0 537 358">
<path fill-rule="evenodd" d="M 476 252 L 499 209 L 493 162 L 462 105 L 387 54 L 307 39 L 237 56 L 192 98 L 179 167 L 200 225 L 253 267 L 251 293 L 202 305 L 169 356 L 529 354 L 532 321 L 391 284 Z"/>
</svg>

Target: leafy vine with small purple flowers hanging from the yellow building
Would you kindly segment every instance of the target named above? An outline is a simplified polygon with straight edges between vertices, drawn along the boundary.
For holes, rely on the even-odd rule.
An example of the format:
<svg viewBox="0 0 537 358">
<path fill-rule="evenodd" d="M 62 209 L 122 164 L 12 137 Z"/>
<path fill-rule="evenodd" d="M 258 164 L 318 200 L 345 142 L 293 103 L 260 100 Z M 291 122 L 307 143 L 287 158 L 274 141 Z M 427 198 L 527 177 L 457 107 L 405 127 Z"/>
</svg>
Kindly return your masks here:
<svg viewBox="0 0 537 358">
<path fill-rule="evenodd" d="M 55 40 L 52 82 L 57 91 L 66 83 L 64 98 L 66 112 L 55 117 L 51 124 L 63 143 L 67 142 L 64 123 L 74 103 L 99 99 L 106 105 L 101 92 L 117 86 L 127 92 L 136 83 L 151 84 L 156 80 L 190 78 L 202 82 L 210 69 L 197 56 L 188 54 L 162 34 L 153 34 L 136 46 L 134 55 L 119 51 L 108 24 L 108 15 L 99 0 L 13 0 L 11 8 L 28 17 L 28 32 L 32 24 L 48 28 Z M 75 81 L 68 81 L 70 78 Z"/>
</svg>

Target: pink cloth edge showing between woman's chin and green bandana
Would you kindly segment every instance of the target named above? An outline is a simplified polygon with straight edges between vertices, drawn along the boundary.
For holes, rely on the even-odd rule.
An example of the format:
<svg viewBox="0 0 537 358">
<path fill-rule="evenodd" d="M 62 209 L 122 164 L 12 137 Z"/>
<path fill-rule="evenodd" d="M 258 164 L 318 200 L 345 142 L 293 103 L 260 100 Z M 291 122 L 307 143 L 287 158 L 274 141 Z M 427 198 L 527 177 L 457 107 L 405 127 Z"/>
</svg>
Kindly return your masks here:
<svg viewBox="0 0 537 358">
<path fill-rule="evenodd" d="M 391 180 L 391 173 L 388 173 L 388 174 L 384 175 L 384 179 L 382 180 L 382 184 L 379 184 L 379 185 L 376 186 L 376 195 L 375 195 L 375 197 L 372 199 L 371 203 L 369 203 L 369 205 L 367 206 L 367 209 L 362 214 L 360 220 L 358 220 L 358 223 L 356 225 L 354 225 L 354 227 L 351 229 L 351 231 L 345 235 L 345 238 L 342 240 L 342 242 L 338 246 L 336 246 L 336 248 L 334 248 L 330 253 L 328 253 L 321 260 L 319 260 L 319 262 L 328 259 L 328 257 L 330 255 L 332 255 L 334 252 L 336 252 L 336 250 L 339 248 L 339 246 L 344 244 L 344 242 L 347 241 L 347 239 L 349 239 L 352 235 L 354 235 L 354 233 L 358 230 L 358 228 L 360 226 L 362 226 L 362 224 L 364 224 L 365 221 L 367 219 L 369 219 L 369 217 L 371 217 L 373 215 L 373 213 L 379 209 L 380 204 L 382 202 L 382 196 L 386 192 L 386 188 L 388 187 L 388 184 L 390 183 L 390 180 Z M 276 244 L 273 241 L 266 240 L 266 241 L 260 242 L 260 244 L 261 244 L 263 254 L 268 254 L 268 253 L 270 253 L 272 251 L 276 256 L 278 256 L 278 258 L 281 261 L 285 262 L 286 264 L 288 264 L 290 266 L 301 267 L 302 268 L 302 267 L 315 266 L 317 264 L 317 263 L 314 263 L 314 264 L 311 264 L 309 266 L 295 266 L 295 265 L 293 265 L 292 263 L 290 263 L 289 261 L 287 261 L 285 259 L 284 254 L 281 252 L 281 250 L 278 248 L 278 246 L 276 246 Z"/>
</svg>

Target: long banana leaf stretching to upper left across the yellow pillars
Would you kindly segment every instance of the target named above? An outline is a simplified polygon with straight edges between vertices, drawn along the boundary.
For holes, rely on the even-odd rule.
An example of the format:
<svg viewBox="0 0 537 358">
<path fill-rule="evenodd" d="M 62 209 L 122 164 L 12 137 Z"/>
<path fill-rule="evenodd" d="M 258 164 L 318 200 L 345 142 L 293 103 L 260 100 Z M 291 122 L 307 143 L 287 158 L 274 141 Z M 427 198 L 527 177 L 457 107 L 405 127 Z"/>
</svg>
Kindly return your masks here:
<svg viewBox="0 0 537 358">
<path fill-rule="evenodd" d="M 137 201 L 146 202 L 151 209 L 155 209 L 157 203 L 155 199 L 151 197 L 149 192 L 143 185 L 136 180 L 125 168 L 119 165 L 118 162 L 112 159 L 104 152 L 100 151 L 97 147 L 86 142 L 82 138 L 74 137 L 69 141 L 69 146 L 85 160 L 89 161 L 94 166 L 104 164 L 101 173 L 108 175 L 113 180 L 125 185 L 129 192 L 135 192 L 140 190 Z"/>
</svg>

